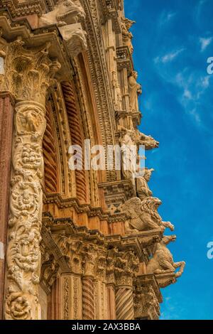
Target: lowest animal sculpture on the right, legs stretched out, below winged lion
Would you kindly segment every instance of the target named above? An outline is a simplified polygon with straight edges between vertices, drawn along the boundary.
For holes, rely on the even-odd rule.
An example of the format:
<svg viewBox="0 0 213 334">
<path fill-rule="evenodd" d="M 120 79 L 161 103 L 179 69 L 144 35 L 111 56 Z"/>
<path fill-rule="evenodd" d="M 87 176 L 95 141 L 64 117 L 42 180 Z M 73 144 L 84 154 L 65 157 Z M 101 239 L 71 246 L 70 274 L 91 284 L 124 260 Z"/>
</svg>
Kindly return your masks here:
<svg viewBox="0 0 213 334">
<path fill-rule="evenodd" d="M 148 262 L 147 274 L 174 273 L 177 268 L 180 268 L 180 270 L 175 273 L 175 277 L 178 278 L 182 275 L 185 268 L 185 262 L 174 262 L 173 255 L 166 247 L 167 244 L 174 242 L 175 239 L 175 235 L 165 236 L 161 242 L 158 242 L 155 245 L 153 258 Z"/>
</svg>

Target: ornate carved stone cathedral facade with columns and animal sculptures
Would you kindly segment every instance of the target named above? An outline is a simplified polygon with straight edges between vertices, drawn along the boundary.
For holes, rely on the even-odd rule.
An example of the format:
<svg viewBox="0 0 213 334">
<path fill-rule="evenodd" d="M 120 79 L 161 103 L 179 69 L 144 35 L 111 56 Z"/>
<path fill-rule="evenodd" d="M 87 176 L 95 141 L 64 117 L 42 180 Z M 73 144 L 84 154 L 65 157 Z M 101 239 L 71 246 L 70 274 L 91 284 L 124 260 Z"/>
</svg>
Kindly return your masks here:
<svg viewBox="0 0 213 334">
<path fill-rule="evenodd" d="M 155 320 L 182 274 L 153 169 L 106 153 L 158 148 L 138 130 L 133 23 L 124 0 L 0 1 L 1 319 Z M 70 168 L 88 141 L 105 168 Z"/>
</svg>

